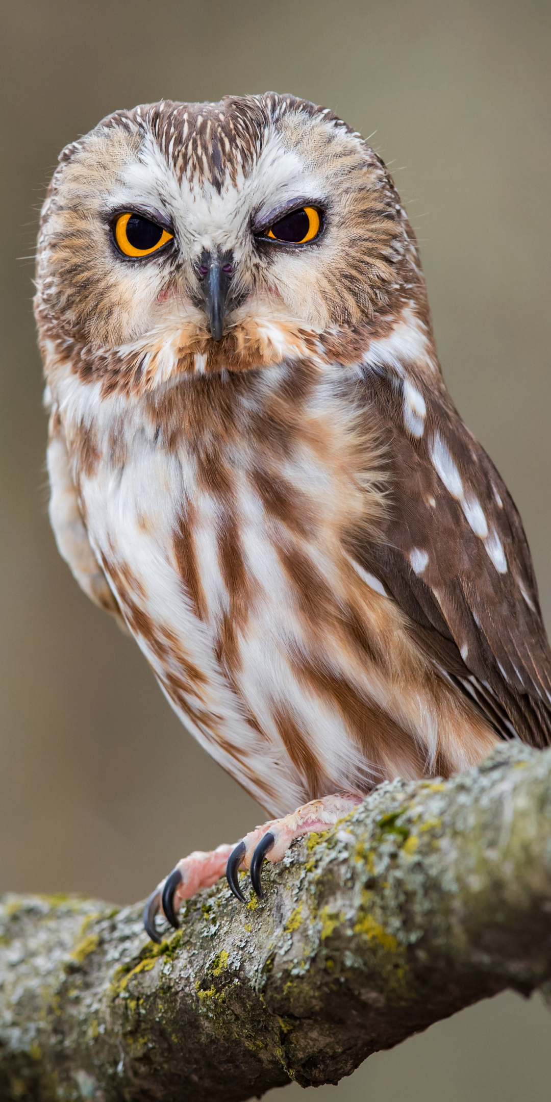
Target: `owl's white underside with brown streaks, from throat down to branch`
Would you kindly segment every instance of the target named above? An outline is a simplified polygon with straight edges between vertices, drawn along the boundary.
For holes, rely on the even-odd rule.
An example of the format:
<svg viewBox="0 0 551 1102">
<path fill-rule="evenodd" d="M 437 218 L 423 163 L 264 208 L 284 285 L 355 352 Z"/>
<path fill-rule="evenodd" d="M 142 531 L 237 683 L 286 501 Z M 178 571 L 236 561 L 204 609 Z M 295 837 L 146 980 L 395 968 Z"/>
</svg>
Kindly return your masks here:
<svg viewBox="0 0 551 1102">
<path fill-rule="evenodd" d="M 388 775 L 375 721 L 401 771 L 422 768 L 381 720 L 389 701 L 403 712 L 403 618 L 346 552 L 347 532 L 380 520 L 381 457 L 342 379 L 323 381 L 202 436 L 188 408 L 185 432 L 165 421 L 130 443 L 121 425 L 78 469 L 90 543 L 171 703 L 277 813 Z M 403 683 L 406 637 L 401 650 Z"/>
</svg>

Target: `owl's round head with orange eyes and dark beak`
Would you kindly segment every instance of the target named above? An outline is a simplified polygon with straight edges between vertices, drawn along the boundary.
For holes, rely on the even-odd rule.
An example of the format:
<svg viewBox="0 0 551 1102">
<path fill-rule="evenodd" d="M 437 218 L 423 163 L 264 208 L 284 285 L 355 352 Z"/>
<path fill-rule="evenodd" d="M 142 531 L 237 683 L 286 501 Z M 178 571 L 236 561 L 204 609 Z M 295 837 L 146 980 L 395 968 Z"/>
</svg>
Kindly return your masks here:
<svg viewBox="0 0 551 1102">
<path fill-rule="evenodd" d="M 43 338 L 133 357 L 151 385 L 276 361 L 396 315 L 415 288 L 385 165 L 292 96 L 117 111 L 63 151 L 43 208 Z"/>
</svg>

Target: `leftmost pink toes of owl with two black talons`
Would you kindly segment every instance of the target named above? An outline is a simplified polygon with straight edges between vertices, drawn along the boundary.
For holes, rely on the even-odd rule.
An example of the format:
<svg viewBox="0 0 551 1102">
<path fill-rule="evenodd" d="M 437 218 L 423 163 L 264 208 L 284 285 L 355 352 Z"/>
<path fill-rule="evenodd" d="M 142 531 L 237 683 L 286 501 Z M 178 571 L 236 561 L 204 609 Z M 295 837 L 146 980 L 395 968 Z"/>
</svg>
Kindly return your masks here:
<svg viewBox="0 0 551 1102">
<path fill-rule="evenodd" d="M 176 912 L 184 899 L 190 899 L 199 888 L 209 888 L 224 875 L 231 845 L 219 845 L 217 850 L 194 850 L 188 857 L 182 857 L 170 876 L 158 884 L 143 908 L 143 925 L 152 941 L 161 943 L 155 929 L 155 915 L 162 909 L 171 926 L 177 930 Z"/>
</svg>

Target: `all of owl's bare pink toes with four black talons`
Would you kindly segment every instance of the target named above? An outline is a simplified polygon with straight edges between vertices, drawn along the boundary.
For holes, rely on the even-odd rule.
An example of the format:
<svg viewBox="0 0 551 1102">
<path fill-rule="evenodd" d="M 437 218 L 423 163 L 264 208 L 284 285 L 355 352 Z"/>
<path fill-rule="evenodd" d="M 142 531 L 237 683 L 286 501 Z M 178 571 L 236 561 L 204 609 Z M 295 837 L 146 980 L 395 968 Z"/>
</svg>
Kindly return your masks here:
<svg viewBox="0 0 551 1102">
<path fill-rule="evenodd" d="M 249 871 L 250 884 L 258 899 L 264 898 L 261 872 L 264 861 L 277 863 L 285 855 L 289 846 L 304 834 L 331 830 L 352 814 L 361 796 L 339 793 L 321 800 L 312 800 L 304 807 L 282 819 L 271 820 L 250 831 L 236 845 L 219 845 L 217 850 L 203 853 L 195 851 L 183 857 L 151 893 L 143 908 L 143 926 L 152 941 L 158 944 L 161 936 L 155 918 L 159 914 L 177 930 L 177 912 L 185 899 L 191 899 L 201 888 L 212 887 L 226 875 L 235 898 L 247 903 L 244 895 L 244 878 L 239 872 Z"/>
</svg>

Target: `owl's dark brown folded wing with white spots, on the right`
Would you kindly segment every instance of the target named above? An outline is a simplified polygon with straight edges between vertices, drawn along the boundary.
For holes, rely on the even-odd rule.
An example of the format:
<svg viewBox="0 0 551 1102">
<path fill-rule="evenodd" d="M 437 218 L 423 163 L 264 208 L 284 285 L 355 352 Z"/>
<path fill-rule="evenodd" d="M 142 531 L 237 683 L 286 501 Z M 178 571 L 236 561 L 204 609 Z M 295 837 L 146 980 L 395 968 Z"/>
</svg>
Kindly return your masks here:
<svg viewBox="0 0 551 1102">
<path fill-rule="evenodd" d="M 530 551 L 491 460 L 441 379 L 366 375 L 388 445 L 389 518 L 350 552 L 410 617 L 424 652 L 504 737 L 551 743 L 551 651 Z"/>
</svg>

